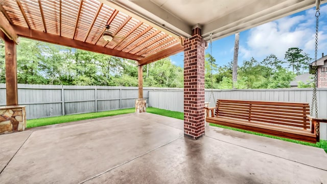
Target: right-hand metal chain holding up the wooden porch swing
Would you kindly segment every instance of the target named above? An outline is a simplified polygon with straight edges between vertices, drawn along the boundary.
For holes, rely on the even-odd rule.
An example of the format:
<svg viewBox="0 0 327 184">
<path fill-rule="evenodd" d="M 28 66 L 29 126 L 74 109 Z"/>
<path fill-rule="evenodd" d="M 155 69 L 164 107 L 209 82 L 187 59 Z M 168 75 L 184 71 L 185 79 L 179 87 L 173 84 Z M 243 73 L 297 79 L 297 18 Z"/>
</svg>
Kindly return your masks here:
<svg viewBox="0 0 327 184">
<path fill-rule="evenodd" d="M 317 54 L 318 54 L 318 22 L 319 22 L 320 11 L 319 8 L 316 10 L 316 36 L 315 36 L 315 64 L 314 69 L 314 87 L 312 94 L 312 104 L 310 114 L 313 116 L 313 109 L 315 109 L 315 117 L 318 118 L 318 105 L 317 105 L 317 78 L 318 78 L 318 66 L 317 66 Z M 319 123 L 316 123 L 316 135 L 319 136 Z"/>
</svg>

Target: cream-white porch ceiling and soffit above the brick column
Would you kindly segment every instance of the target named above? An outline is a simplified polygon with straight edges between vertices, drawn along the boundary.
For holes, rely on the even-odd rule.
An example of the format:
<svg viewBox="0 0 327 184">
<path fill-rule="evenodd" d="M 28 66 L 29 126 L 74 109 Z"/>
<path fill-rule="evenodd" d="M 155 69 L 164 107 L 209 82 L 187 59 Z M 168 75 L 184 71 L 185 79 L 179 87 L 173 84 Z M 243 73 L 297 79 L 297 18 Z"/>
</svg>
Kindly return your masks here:
<svg viewBox="0 0 327 184">
<path fill-rule="evenodd" d="M 314 0 L 107 0 L 169 32 L 219 39 L 315 6 Z M 322 0 L 321 4 L 327 3 Z M 312 17 L 314 18 L 314 17 Z"/>
</svg>

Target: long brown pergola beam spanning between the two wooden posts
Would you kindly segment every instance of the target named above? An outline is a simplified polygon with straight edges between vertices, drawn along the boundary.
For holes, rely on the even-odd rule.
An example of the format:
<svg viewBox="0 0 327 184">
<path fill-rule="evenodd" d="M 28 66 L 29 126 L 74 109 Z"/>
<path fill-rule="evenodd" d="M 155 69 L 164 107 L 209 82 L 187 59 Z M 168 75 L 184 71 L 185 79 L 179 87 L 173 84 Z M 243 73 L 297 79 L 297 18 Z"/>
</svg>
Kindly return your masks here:
<svg viewBox="0 0 327 184">
<path fill-rule="evenodd" d="M 82 49 L 82 50 L 101 53 L 101 54 L 106 54 L 106 55 L 110 55 L 110 56 L 132 59 L 132 60 L 136 60 L 136 61 L 144 58 L 143 56 L 137 56 L 137 55 L 125 53 L 122 51 L 104 48 L 99 45 L 86 43 L 84 41 L 74 40 L 74 39 L 62 37 L 59 35 L 44 33 L 41 31 L 35 31 L 35 30 L 31 30 L 31 29 L 19 27 L 19 26 L 15 26 L 13 28 L 16 31 L 16 33 L 22 37 L 37 39 L 40 41 L 45 41 L 45 42 L 49 42 L 49 43 L 59 44 L 59 45 L 67 46 L 67 47 Z"/>
</svg>

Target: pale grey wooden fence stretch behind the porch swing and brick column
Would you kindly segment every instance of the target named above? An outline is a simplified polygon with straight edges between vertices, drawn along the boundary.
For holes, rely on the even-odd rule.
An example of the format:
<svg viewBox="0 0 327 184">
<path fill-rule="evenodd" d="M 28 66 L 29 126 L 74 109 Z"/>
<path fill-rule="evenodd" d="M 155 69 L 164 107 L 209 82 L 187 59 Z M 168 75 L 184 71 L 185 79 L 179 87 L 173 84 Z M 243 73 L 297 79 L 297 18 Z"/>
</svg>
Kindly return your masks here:
<svg viewBox="0 0 327 184">
<path fill-rule="evenodd" d="M 211 89 L 205 89 L 205 101 L 209 101 Z M 256 100 L 276 102 L 306 102 L 311 106 L 312 89 L 290 88 L 290 89 L 235 89 L 235 90 L 213 90 L 214 97 L 210 98 L 209 106 L 216 106 L 217 99 L 228 100 Z M 327 118 L 327 88 L 317 89 L 319 118 Z M 173 111 L 184 111 L 183 89 L 167 91 L 149 91 L 149 106 L 168 109 Z M 327 125 L 320 125 L 320 139 L 327 140 Z"/>
</svg>

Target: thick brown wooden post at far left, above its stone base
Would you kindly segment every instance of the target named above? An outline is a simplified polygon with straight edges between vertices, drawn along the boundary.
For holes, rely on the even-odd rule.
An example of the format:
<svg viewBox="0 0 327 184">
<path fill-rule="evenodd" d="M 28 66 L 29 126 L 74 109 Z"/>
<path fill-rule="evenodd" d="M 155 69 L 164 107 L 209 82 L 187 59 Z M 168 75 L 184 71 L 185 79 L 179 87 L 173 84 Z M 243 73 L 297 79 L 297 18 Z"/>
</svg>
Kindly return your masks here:
<svg viewBox="0 0 327 184">
<path fill-rule="evenodd" d="M 16 43 L 5 37 L 7 106 L 18 105 Z"/>
</svg>

